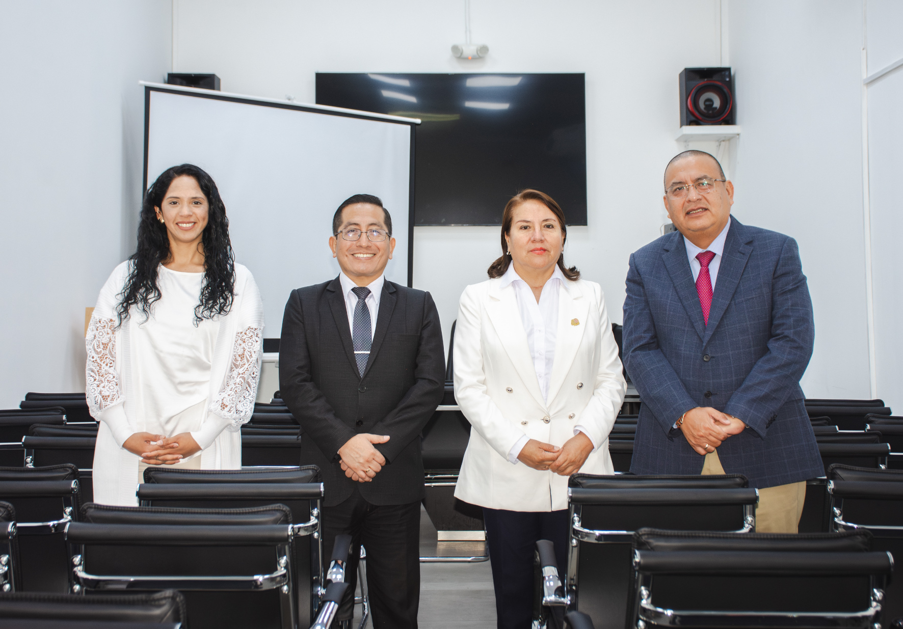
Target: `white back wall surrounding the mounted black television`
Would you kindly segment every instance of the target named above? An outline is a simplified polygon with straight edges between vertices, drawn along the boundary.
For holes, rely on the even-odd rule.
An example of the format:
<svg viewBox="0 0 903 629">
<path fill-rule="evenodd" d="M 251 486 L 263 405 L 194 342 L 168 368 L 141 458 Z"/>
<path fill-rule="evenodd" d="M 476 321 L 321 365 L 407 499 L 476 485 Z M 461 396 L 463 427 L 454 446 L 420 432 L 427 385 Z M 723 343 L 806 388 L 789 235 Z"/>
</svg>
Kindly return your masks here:
<svg viewBox="0 0 903 629">
<path fill-rule="evenodd" d="M 489 44 L 485 60 L 449 50 L 463 41 L 462 0 L 179 0 L 175 65 L 215 71 L 225 91 L 307 102 L 317 71 L 585 72 L 590 225 L 569 230 L 565 259 L 600 282 L 620 321 L 628 255 L 666 221 L 662 171 L 680 149 L 677 75 L 719 62 L 718 2 L 470 5 L 472 40 Z M 321 247 L 327 254 L 326 236 Z M 414 286 L 433 293 L 446 340 L 461 291 L 485 280 L 500 253 L 497 227 L 415 229 Z"/>
</svg>

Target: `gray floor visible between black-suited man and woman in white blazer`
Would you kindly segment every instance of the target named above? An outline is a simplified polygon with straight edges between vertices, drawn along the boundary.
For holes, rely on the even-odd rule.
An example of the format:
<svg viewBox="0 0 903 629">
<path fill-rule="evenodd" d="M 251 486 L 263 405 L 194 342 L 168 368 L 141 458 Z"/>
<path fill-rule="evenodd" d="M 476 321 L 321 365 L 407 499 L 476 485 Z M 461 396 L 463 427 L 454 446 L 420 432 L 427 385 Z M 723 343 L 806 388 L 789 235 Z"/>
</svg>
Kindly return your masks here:
<svg viewBox="0 0 903 629">
<path fill-rule="evenodd" d="M 420 513 L 423 557 L 478 556 L 483 542 L 437 541 L 426 511 Z M 359 606 L 355 609 L 359 615 Z M 359 622 L 359 616 L 356 618 Z M 495 629 L 496 598 L 489 561 L 420 564 L 420 629 Z M 372 624 L 368 622 L 368 627 Z"/>
</svg>

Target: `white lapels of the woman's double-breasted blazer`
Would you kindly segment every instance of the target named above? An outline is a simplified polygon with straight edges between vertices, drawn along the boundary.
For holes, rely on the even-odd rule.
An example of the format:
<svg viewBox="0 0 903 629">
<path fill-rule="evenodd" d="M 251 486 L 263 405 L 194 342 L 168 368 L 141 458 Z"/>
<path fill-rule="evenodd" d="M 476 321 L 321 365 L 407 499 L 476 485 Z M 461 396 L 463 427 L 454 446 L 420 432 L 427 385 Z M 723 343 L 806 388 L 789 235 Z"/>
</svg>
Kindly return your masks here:
<svg viewBox="0 0 903 629">
<path fill-rule="evenodd" d="M 552 365 L 552 381 L 549 383 L 549 402 L 561 390 L 564 376 L 573 364 L 574 356 L 580 348 L 583 329 L 589 319 L 590 300 L 583 294 L 582 282 L 562 282 L 563 291 L 558 293 L 558 328 L 555 336 L 555 359 Z M 539 389 L 533 357 L 526 340 L 524 323 L 520 319 L 517 308 L 517 294 L 512 285 L 501 288 L 501 279 L 489 281 L 489 301 L 486 312 L 492 327 L 495 328 L 502 347 L 517 371 L 517 375 L 526 384 L 527 390 L 541 407 L 548 408 Z M 580 325 L 571 325 L 572 319 L 581 321 Z"/>
</svg>

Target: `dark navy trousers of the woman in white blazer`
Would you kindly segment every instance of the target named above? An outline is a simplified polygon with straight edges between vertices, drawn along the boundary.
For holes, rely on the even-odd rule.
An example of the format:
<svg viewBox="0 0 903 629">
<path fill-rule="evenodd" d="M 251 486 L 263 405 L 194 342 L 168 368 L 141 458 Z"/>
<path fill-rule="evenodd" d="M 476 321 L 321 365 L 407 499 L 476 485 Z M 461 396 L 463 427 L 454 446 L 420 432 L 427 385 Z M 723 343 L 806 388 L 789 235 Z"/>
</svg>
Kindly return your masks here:
<svg viewBox="0 0 903 629">
<path fill-rule="evenodd" d="M 567 567 L 568 512 L 505 511 L 483 507 L 496 590 L 498 629 L 530 629 L 537 540 L 553 541 L 559 574 Z M 562 578 L 562 581 L 564 578 Z"/>
</svg>

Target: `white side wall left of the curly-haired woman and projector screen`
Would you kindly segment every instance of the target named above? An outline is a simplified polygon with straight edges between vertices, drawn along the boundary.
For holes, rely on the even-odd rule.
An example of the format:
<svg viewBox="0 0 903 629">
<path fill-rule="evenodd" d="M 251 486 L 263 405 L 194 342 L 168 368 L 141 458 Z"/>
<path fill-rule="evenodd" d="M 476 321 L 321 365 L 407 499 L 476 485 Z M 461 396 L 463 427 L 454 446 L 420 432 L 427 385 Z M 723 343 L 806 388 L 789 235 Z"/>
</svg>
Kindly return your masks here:
<svg viewBox="0 0 903 629">
<path fill-rule="evenodd" d="M 85 387 L 84 314 L 135 249 L 170 0 L 0 4 L 0 408 Z"/>
</svg>

